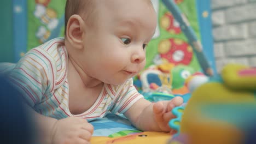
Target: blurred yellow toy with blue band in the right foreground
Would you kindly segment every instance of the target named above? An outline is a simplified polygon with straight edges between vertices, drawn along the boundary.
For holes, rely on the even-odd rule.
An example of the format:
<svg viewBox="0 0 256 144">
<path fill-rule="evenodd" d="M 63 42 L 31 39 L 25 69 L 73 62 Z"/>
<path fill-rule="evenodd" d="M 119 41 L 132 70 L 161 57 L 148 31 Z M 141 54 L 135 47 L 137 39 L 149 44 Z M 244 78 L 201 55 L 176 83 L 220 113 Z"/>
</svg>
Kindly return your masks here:
<svg viewBox="0 0 256 144">
<path fill-rule="evenodd" d="M 243 143 L 256 124 L 256 69 L 229 64 L 192 93 L 181 120 L 189 143 Z"/>
</svg>

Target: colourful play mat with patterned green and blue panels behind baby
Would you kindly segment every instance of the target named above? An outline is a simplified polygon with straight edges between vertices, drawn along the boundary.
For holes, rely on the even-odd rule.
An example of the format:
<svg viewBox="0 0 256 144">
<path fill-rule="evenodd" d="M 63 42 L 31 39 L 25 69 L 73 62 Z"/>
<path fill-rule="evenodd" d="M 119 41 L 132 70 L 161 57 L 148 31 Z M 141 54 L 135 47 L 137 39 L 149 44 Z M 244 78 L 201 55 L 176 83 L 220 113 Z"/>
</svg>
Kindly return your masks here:
<svg viewBox="0 0 256 144">
<path fill-rule="evenodd" d="M 156 33 L 147 46 L 146 68 L 134 84 L 150 101 L 181 95 L 187 101 L 189 76 L 216 72 L 213 56 L 210 0 L 152 0 L 158 14 Z M 13 0 L 14 62 L 30 49 L 64 31 L 65 0 Z M 3 53 L 0 53 L 3 55 Z M 95 143 L 148 139 L 167 140 L 162 133 L 137 130 L 126 118 L 109 114 L 92 122 Z M 133 136 L 128 136 L 133 134 Z M 134 135 L 135 134 L 135 135 Z M 126 136 L 125 139 L 113 139 Z M 148 137 L 147 137 L 148 136 Z M 137 138 L 136 138 L 137 137 Z M 152 138 L 153 137 L 153 138 Z M 162 138 L 161 138 L 162 137 Z M 126 139 L 127 138 L 127 139 Z"/>
</svg>

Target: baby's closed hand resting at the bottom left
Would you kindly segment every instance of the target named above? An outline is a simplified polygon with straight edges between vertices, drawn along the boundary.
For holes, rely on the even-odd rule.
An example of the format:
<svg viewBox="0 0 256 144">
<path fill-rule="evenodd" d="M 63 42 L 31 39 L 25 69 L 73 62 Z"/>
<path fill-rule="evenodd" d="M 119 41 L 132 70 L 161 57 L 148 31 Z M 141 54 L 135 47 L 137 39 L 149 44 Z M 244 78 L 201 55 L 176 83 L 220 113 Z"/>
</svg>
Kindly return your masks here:
<svg viewBox="0 0 256 144">
<path fill-rule="evenodd" d="M 94 127 L 86 119 L 68 117 L 57 121 L 51 134 L 53 144 L 90 143 Z"/>
</svg>

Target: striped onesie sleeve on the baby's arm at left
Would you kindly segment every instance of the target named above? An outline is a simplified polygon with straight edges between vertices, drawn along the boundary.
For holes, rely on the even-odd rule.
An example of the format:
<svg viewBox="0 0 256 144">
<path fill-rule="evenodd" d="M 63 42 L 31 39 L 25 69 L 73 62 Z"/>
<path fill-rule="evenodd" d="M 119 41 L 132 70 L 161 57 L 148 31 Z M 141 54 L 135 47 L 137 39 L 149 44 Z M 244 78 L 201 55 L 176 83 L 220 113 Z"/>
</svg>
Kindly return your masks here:
<svg viewBox="0 0 256 144">
<path fill-rule="evenodd" d="M 21 92 L 25 102 L 34 107 L 53 91 L 53 62 L 43 49 L 32 49 L 8 74 L 9 81 Z"/>
</svg>

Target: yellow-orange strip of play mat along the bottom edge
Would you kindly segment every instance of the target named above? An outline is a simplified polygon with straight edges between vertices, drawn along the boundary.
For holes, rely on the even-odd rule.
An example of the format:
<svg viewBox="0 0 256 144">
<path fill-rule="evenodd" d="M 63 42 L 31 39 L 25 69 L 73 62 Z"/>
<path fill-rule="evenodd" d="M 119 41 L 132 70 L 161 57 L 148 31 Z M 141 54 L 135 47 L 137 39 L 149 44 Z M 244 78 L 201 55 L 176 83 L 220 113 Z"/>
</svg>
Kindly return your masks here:
<svg viewBox="0 0 256 144">
<path fill-rule="evenodd" d="M 160 133 L 154 131 L 145 131 L 142 133 L 131 134 L 127 136 L 120 137 L 105 137 L 105 136 L 95 136 L 91 139 L 91 144 L 130 144 L 130 143 L 167 143 L 167 140 L 170 139 L 169 133 Z"/>
</svg>

